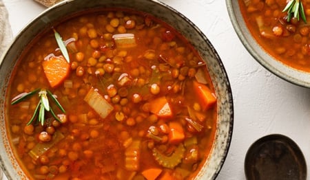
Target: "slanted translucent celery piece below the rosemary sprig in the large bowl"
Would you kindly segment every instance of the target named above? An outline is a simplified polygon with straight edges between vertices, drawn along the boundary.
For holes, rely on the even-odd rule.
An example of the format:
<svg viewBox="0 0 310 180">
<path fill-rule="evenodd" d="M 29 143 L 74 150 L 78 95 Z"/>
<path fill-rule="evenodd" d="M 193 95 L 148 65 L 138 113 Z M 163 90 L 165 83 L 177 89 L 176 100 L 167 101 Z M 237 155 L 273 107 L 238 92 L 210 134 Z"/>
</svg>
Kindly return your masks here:
<svg viewBox="0 0 310 180">
<path fill-rule="evenodd" d="M 29 151 L 30 157 L 36 161 L 41 155 L 48 151 L 52 146 L 57 144 L 65 136 L 60 131 L 56 131 L 52 137 L 52 141 L 46 143 L 38 143 L 32 150 Z"/>
</svg>

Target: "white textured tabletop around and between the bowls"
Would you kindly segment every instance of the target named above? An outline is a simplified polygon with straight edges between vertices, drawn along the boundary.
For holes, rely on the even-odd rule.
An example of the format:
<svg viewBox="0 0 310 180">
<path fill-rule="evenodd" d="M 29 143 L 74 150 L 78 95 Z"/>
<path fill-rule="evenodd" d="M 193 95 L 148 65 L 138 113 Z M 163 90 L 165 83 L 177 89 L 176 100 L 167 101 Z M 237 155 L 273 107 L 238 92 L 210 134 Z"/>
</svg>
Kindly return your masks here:
<svg viewBox="0 0 310 180">
<path fill-rule="evenodd" d="M 256 139 L 280 133 L 301 148 L 310 172 L 310 89 L 292 85 L 259 65 L 231 25 L 225 0 L 161 0 L 202 30 L 225 65 L 234 96 L 234 133 L 217 179 L 245 179 L 244 159 Z M 3 0 L 13 36 L 45 10 L 32 0 Z M 308 175 L 310 179 L 310 175 Z"/>
</svg>

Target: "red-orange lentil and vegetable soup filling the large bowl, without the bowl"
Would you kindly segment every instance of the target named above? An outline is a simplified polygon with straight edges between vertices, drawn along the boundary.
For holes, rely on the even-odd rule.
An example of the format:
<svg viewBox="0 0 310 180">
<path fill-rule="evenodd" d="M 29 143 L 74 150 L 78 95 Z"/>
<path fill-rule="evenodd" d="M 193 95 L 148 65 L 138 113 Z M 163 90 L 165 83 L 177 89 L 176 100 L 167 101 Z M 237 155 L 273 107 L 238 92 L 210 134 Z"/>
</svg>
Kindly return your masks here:
<svg viewBox="0 0 310 180">
<path fill-rule="evenodd" d="M 70 63 L 51 29 L 23 53 L 10 80 L 8 101 L 39 89 L 8 107 L 10 143 L 29 177 L 195 177 L 214 142 L 216 96 L 185 38 L 149 14 L 116 10 L 54 30 Z M 28 123 L 39 102 L 44 115 Z"/>
</svg>

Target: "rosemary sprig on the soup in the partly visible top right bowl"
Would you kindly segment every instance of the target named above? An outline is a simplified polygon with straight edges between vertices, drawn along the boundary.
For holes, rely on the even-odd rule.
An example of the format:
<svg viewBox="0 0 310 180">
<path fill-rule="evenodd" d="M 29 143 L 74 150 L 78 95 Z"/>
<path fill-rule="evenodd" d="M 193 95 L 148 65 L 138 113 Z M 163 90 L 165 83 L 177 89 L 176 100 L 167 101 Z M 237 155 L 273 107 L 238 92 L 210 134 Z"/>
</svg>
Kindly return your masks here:
<svg viewBox="0 0 310 180">
<path fill-rule="evenodd" d="M 291 21 L 292 15 L 299 21 L 300 16 L 304 23 L 307 23 L 306 14 L 304 14 L 304 6 L 301 0 L 291 0 L 287 3 L 282 12 L 287 11 L 287 22 Z"/>
</svg>

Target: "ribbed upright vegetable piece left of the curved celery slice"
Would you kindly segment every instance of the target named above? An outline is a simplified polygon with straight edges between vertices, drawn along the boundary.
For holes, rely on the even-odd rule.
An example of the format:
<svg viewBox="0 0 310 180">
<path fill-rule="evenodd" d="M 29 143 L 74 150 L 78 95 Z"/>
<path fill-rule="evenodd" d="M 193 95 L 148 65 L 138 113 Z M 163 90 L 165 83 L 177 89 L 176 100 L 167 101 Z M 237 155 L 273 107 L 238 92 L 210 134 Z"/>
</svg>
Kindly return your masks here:
<svg viewBox="0 0 310 180">
<path fill-rule="evenodd" d="M 132 144 L 125 150 L 126 170 L 138 170 L 140 164 L 141 141 L 134 139 Z"/>
</svg>

